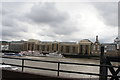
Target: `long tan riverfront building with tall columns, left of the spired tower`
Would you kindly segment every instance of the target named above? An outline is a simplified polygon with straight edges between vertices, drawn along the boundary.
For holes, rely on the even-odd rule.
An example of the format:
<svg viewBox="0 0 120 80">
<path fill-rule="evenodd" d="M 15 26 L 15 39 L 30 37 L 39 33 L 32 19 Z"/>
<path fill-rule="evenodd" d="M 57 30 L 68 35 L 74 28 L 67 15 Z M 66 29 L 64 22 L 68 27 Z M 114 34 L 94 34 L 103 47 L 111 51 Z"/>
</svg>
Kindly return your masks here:
<svg viewBox="0 0 120 80">
<path fill-rule="evenodd" d="M 23 47 L 25 46 L 25 47 Z M 82 50 L 83 49 L 83 50 Z M 39 52 L 60 52 L 72 54 L 90 55 L 92 49 L 92 42 L 88 39 L 76 42 L 43 42 L 35 39 L 30 39 L 26 42 L 11 42 L 10 50 L 18 51 L 39 51 Z"/>
</svg>

